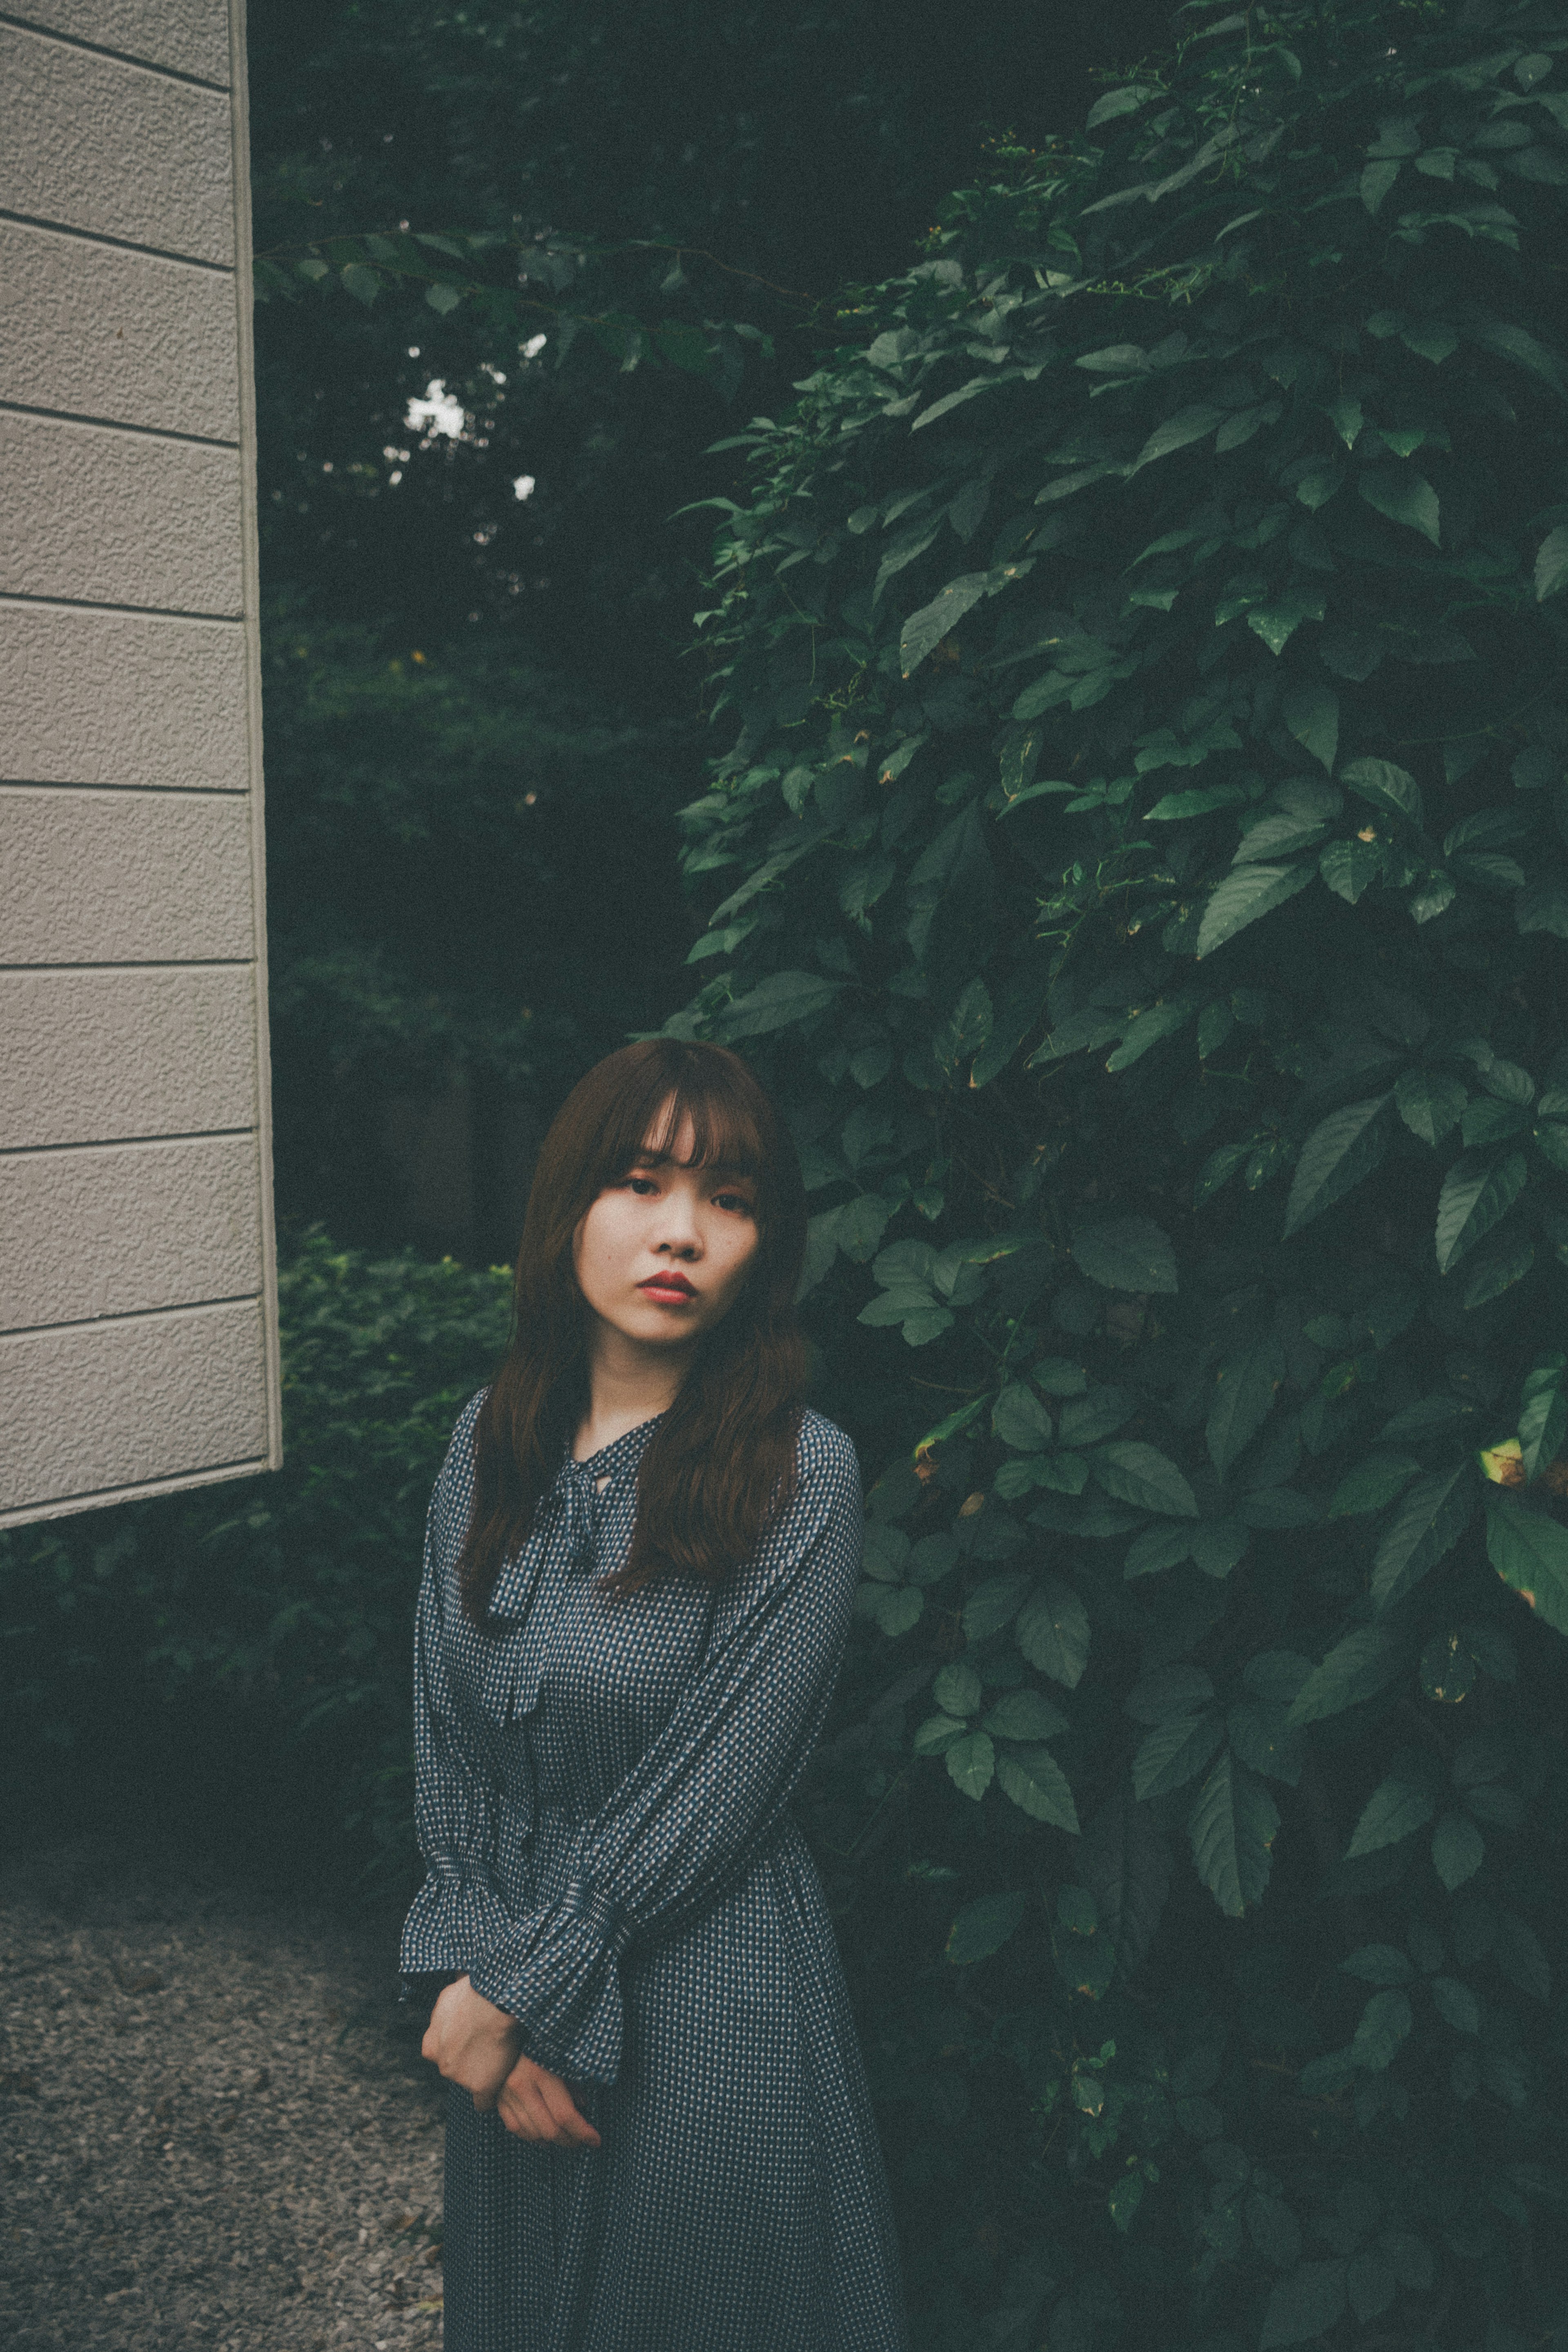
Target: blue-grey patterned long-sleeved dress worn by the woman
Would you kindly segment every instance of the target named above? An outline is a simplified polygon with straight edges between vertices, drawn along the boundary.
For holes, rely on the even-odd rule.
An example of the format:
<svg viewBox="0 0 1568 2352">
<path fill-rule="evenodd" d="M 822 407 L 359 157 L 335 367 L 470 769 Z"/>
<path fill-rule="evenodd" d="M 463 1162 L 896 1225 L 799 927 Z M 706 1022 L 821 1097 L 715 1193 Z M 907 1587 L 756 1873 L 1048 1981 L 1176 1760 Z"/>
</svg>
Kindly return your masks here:
<svg viewBox="0 0 1568 2352">
<path fill-rule="evenodd" d="M 903 2352 L 898 2256 L 816 1867 L 788 1813 L 860 1564 L 853 1446 L 806 1414 L 790 1510 L 724 1585 L 599 1590 L 644 1423 L 562 1461 L 482 1639 L 463 1411 L 418 1599 L 402 1966 L 468 1971 L 602 2147 L 447 2105 L 449 2352 Z M 609 1479 L 604 1491 L 599 1482 Z"/>
</svg>

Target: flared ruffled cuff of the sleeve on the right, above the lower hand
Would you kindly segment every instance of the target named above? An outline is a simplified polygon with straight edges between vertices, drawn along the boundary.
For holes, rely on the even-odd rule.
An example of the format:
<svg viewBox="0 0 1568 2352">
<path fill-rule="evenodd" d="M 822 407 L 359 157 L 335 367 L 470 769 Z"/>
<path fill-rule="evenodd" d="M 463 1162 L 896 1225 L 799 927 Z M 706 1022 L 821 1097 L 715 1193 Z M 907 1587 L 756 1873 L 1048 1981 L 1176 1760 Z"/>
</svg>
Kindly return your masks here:
<svg viewBox="0 0 1568 2352">
<path fill-rule="evenodd" d="M 480 1952 L 468 1976 L 522 2027 L 522 2046 L 567 2082 L 611 2084 L 621 2072 L 621 1973 L 630 1924 L 599 1889 L 574 1879 Z"/>
</svg>

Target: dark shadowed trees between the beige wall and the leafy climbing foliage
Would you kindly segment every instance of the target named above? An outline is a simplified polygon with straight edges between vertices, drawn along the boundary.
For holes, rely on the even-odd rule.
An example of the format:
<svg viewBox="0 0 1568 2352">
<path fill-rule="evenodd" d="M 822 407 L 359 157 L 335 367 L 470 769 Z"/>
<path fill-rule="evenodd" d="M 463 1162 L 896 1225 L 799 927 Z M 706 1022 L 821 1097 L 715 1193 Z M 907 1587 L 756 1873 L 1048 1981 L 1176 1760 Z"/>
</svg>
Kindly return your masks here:
<svg viewBox="0 0 1568 2352">
<path fill-rule="evenodd" d="M 1081 127 L 1168 9 L 252 9 L 256 249 L 538 230 L 632 315 L 733 320 L 741 381 L 616 367 L 336 278 L 256 315 L 277 1207 L 348 1244 L 512 1254 L 567 1087 L 689 995 L 675 811 L 724 743 L 691 614 L 738 459 L 853 287 L 907 266 L 987 136 Z M 691 252 L 698 247 L 701 252 Z M 710 259 L 703 259 L 710 256 Z M 524 313 L 527 332 L 527 313 Z M 505 381 L 498 381 L 505 379 Z M 407 426 L 430 381 L 461 437 Z M 512 482 L 531 475 L 520 501 Z M 719 729 L 722 734 L 722 729 Z"/>
</svg>

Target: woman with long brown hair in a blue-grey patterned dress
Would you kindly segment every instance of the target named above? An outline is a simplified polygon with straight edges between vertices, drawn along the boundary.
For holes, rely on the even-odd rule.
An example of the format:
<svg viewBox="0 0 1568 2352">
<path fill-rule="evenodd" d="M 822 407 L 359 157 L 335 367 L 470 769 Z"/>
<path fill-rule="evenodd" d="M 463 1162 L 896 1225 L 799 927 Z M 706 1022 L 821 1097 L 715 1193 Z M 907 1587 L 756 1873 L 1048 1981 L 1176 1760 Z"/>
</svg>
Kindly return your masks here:
<svg viewBox="0 0 1568 2352">
<path fill-rule="evenodd" d="M 442 1973 L 449 2352 L 900 2352 L 823 1891 L 790 1820 L 860 1564 L 802 1411 L 804 1195 L 733 1054 L 646 1040 L 538 1160 L 510 1352 L 418 1602 L 402 1966 Z"/>
</svg>

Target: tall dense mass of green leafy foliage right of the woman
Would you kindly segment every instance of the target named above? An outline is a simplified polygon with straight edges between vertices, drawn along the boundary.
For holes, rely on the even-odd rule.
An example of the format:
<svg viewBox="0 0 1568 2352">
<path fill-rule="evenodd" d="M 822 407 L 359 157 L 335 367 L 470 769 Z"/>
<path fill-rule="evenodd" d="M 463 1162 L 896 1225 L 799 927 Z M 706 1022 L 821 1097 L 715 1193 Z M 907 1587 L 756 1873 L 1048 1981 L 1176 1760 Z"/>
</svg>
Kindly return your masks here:
<svg viewBox="0 0 1568 2352">
<path fill-rule="evenodd" d="M 893 1463 L 835 1788 L 919 2343 L 1502 2352 L 1568 2307 L 1568 16 L 1180 21 L 752 426 L 672 1028 L 790 1101 Z"/>
</svg>

